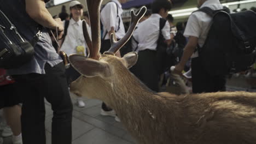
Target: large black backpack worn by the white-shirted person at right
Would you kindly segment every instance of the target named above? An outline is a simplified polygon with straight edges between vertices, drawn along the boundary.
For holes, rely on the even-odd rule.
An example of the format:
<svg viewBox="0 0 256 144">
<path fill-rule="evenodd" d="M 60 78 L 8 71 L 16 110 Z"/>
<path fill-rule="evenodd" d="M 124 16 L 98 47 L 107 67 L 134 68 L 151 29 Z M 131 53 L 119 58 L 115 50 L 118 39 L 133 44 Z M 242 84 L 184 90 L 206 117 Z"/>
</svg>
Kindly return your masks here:
<svg viewBox="0 0 256 144">
<path fill-rule="evenodd" d="M 229 75 L 251 69 L 256 59 L 256 13 L 228 14 L 203 7 L 213 17 L 205 44 L 199 47 L 203 68 L 210 75 Z"/>
</svg>

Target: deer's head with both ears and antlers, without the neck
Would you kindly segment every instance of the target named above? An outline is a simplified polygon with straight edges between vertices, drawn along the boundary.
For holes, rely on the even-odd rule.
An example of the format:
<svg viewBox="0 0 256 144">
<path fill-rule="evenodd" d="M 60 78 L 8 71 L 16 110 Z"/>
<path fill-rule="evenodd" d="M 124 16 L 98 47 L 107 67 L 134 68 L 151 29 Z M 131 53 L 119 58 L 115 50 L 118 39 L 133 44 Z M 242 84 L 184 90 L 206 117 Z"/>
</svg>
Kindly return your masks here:
<svg viewBox="0 0 256 144">
<path fill-rule="evenodd" d="M 120 79 L 129 75 L 131 68 L 136 62 L 138 55 L 136 52 L 127 53 L 123 58 L 115 56 L 115 53 L 123 47 L 131 38 L 138 21 L 146 13 L 147 8 L 142 7 L 136 15 L 131 10 L 130 27 L 123 39 L 115 41 L 111 35 L 111 47 L 107 52 L 100 53 L 100 5 L 102 0 L 87 0 L 88 12 L 91 22 L 91 38 L 83 21 L 83 32 L 88 44 L 90 55 L 84 57 L 80 55 L 69 56 L 69 62 L 82 76 L 71 83 L 71 92 L 78 96 L 86 95 L 91 98 L 104 100 L 110 95 L 110 89 L 115 89 Z M 130 74 L 131 75 L 131 74 Z M 104 98 L 102 97 L 104 95 Z"/>
</svg>

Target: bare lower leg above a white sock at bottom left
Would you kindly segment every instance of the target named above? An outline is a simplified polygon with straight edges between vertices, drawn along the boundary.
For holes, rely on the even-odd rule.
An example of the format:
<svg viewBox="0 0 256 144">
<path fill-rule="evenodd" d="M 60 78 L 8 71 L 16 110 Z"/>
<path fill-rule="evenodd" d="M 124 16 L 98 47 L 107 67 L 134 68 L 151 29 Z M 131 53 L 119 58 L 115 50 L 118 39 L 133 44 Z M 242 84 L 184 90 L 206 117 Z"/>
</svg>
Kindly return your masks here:
<svg viewBox="0 0 256 144">
<path fill-rule="evenodd" d="M 7 124 L 10 126 L 13 131 L 14 136 L 21 134 L 21 106 L 15 105 L 11 107 L 4 107 L 4 116 L 7 121 Z"/>
</svg>

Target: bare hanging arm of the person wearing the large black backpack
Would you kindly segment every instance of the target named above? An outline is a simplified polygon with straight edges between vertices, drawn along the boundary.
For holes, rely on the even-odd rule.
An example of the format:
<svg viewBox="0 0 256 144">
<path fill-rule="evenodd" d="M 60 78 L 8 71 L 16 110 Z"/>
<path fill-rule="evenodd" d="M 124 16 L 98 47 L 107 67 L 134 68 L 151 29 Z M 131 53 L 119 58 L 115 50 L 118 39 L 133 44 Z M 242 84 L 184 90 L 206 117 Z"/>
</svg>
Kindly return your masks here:
<svg viewBox="0 0 256 144">
<path fill-rule="evenodd" d="M 193 55 L 196 46 L 197 46 L 197 37 L 190 36 L 188 44 L 184 48 L 183 56 L 181 61 L 175 66 L 175 72 L 178 74 L 182 73 L 182 70 L 185 67 L 185 64 L 188 62 L 189 58 Z"/>
</svg>

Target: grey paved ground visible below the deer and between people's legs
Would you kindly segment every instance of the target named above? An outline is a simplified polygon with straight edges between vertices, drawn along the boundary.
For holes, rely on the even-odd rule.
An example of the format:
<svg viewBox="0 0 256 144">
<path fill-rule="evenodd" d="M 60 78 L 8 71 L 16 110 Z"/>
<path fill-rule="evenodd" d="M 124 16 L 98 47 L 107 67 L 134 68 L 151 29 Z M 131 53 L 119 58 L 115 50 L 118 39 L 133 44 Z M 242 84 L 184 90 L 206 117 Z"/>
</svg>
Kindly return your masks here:
<svg viewBox="0 0 256 144">
<path fill-rule="evenodd" d="M 228 80 L 228 91 L 249 91 L 256 92 L 252 89 L 255 85 L 248 85 L 248 82 L 242 76 Z M 75 97 L 71 95 L 74 104 L 73 111 L 73 144 L 132 144 L 135 141 L 127 133 L 121 123 L 115 122 L 113 117 L 104 117 L 100 115 L 101 101 L 84 98 L 86 106 L 80 109 L 75 105 Z M 46 139 L 50 144 L 51 139 L 51 118 L 53 112 L 49 103 L 46 107 Z M 1 116 L 1 111 L 0 111 Z M 1 117 L 0 117 L 1 122 Z M 0 131 L 1 133 L 1 131 Z M 11 138 L 5 137 L 4 144 L 11 144 Z"/>
</svg>

